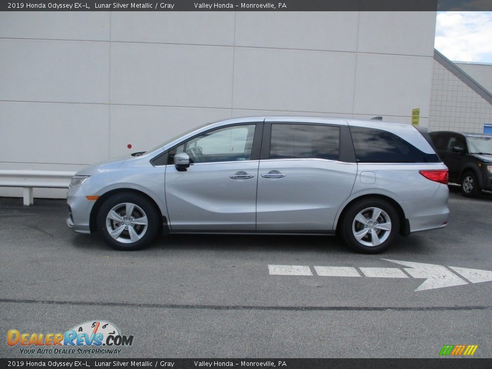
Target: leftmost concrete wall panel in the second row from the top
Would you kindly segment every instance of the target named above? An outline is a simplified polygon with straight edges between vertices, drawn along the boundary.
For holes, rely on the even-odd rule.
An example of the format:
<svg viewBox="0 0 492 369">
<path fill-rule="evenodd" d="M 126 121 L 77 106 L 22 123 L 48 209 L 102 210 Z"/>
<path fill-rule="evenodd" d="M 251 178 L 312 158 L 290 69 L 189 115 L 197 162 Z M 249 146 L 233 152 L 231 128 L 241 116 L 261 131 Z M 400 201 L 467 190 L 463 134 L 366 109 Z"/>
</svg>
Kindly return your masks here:
<svg viewBox="0 0 492 369">
<path fill-rule="evenodd" d="M 109 101 L 109 43 L 0 39 L 0 55 L 0 100 Z"/>
</svg>

